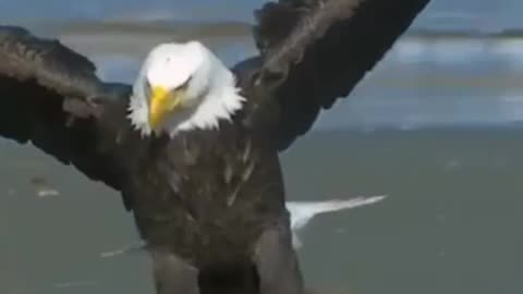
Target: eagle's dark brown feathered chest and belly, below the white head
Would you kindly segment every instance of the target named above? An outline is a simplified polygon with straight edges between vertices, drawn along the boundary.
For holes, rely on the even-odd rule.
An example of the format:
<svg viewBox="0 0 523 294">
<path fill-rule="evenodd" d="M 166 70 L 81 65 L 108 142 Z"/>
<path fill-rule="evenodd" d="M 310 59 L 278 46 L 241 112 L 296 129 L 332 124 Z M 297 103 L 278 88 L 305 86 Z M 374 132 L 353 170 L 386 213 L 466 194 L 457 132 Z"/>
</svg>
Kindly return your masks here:
<svg viewBox="0 0 523 294">
<path fill-rule="evenodd" d="M 252 256 L 264 229 L 287 219 L 276 148 L 223 127 L 150 140 L 123 192 L 148 246 L 198 268 Z"/>
</svg>

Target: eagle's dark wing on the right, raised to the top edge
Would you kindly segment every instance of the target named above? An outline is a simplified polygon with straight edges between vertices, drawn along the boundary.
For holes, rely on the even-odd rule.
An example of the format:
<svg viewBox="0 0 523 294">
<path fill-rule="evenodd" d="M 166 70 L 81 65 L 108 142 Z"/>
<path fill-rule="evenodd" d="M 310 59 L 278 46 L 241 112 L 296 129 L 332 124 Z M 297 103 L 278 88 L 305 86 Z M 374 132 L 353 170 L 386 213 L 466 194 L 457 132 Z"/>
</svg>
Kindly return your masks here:
<svg viewBox="0 0 523 294">
<path fill-rule="evenodd" d="M 280 149 L 349 95 L 428 2 L 280 0 L 256 11 L 260 56 L 235 70 L 243 88 L 277 99 Z"/>
</svg>

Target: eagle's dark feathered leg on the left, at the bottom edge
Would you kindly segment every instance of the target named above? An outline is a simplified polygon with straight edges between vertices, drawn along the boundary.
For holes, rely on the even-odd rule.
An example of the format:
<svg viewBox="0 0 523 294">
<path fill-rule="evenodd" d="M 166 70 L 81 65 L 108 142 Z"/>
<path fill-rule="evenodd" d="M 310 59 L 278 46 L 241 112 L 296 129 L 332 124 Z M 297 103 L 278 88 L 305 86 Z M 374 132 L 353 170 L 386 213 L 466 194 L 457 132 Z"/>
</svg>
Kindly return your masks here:
<svg viewBox="0 0 523 294">
<path fill-rule="evenodd" d="M 175 254 L 151 249 L 157 294 L 199 294 L 198 270 Z"/>
</svg>

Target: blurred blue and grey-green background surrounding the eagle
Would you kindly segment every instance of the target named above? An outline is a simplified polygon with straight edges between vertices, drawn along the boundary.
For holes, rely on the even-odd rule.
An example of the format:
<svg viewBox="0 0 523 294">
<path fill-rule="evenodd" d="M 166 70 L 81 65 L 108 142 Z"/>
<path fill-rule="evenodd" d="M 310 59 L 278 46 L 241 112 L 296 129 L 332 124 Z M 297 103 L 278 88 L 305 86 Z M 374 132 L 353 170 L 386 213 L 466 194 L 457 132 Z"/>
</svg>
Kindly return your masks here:
<svg viewBox="0 0 523 294">
<path fill-rule="evenodd" d="M 132 83 L 160 41 L 255 53 L 264 1 L 0 0 L 2 24 L 60 38 Z M 290 199 L 387 194 L 313 221 L 300 249 L 320 293 L 523 293 L 523 2 L 433 0 L 350 98 L 282 155 Z M 0 139 L 0 293 L 154 293 L 120 196 Z M 47 186 L 53 191 L 44 193 Z"/>
</svg>

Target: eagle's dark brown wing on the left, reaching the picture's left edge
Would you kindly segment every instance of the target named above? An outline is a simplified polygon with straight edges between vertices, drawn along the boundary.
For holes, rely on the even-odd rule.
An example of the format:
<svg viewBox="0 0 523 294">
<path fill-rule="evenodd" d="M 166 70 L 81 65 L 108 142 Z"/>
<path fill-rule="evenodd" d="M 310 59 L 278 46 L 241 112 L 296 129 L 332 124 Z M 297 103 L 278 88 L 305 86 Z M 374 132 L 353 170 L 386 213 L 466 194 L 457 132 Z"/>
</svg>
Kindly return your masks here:
<svg viewBox="0 0 523 294">
<path fill-rule="evenodd" d="M 33 143 L 92 180 L 120 189 L 117 157 L 131 127 L 130 86 L 98 79 L 94 64 L 57 40 L 0 26 L 0 136 Z"/>
</svg>

